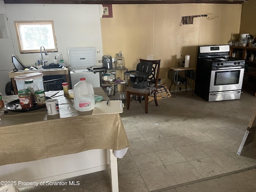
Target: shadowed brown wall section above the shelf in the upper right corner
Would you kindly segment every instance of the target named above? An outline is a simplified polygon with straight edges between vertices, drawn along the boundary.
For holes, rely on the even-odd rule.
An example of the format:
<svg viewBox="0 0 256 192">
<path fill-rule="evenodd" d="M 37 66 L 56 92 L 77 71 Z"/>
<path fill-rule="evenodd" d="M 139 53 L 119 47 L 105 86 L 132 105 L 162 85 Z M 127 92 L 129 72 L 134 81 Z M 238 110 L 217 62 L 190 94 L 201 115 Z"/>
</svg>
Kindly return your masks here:
<svg viewBox="0 0 256 192">
<path fill-rule="evenodd" d="M 250 33 L 256 38 L 256 1 L 249 0 L 243 3 L 240 33 Z"/>
</svg>

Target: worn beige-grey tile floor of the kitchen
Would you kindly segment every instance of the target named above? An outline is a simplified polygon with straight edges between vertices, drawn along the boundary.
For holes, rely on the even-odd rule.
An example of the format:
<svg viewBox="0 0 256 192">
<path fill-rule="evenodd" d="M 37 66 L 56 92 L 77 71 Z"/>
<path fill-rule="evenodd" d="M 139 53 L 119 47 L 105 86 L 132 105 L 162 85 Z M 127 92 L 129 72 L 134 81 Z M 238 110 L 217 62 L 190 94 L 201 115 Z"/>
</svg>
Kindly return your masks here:
<svg viewBox="0 0 256 192">
<path fill-rule="evenodd" d="M 191 92 L 182 93 L 158 100 L 158 106 L 150 103 L 148 114 L 143 102 L 133 100 L 130 110 L 125 107 L 120 114 L 130 141 L 128 152 L 118 159 L 120 192 L 210 192 L 198 190 L 196 185 L 209 187 L 207 181 L 217 188 L 223 185 L 223 191 L 242 191 L 224 190 L 228 185 L 219 178 L 243 174 L 256 166 L 256 160 L 236 154 L 256 106 L 254 96 L 244 92 L 240 100 L 206 102 Z M 231 175 L 234 172 L 238 173 Z M 255 170 L 253 173 L 250 179 L 255 187 Z M 67 180 L 79 180 L 80 185 L 32 186 L 20 191 L 111 191 L 106 171 Z"/>
</svg>

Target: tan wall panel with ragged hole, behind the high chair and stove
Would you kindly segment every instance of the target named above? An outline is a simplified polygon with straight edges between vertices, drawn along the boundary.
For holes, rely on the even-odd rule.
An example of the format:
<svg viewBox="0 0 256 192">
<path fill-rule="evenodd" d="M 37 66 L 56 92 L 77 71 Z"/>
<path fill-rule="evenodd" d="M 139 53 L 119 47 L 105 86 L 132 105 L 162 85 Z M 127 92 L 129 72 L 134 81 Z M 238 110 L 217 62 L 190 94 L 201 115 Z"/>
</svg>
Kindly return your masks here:
<svg viewBox="0 0 256 192">
<path fill-rule="evenodd" d="M 170 86 L 168 67 L 178 66 L 180 54 L 189 54 L 190 66 L 196 67 L 199 45 L 227 44 L 239 34 L 241 9 L 241 4 L 112 5 L 113 18 L 101 18 L 103 54 L 122 51 L 128 70 L 139 58 L 161 59 L 160 78 Z M 209 19 L 180 26 L 182 16 L 209 13 Z"/>
</svg>

